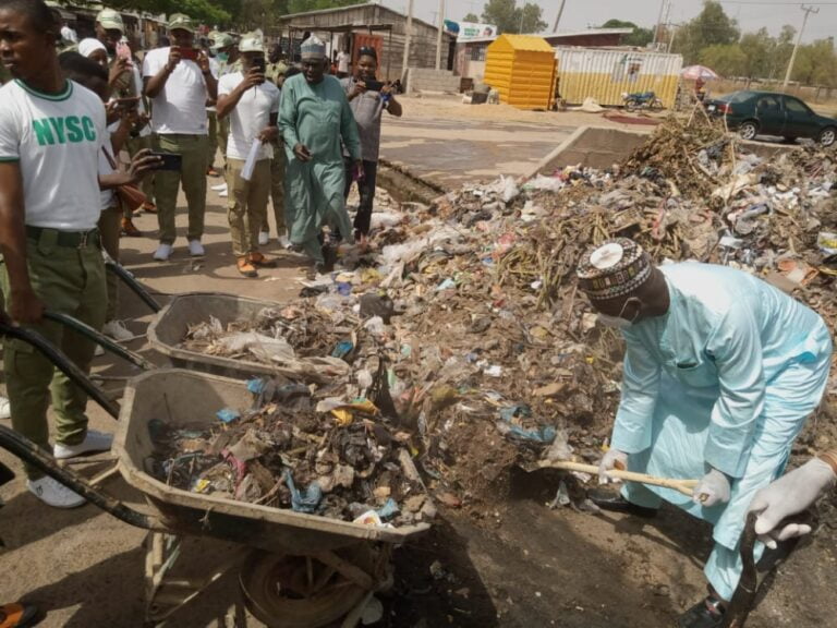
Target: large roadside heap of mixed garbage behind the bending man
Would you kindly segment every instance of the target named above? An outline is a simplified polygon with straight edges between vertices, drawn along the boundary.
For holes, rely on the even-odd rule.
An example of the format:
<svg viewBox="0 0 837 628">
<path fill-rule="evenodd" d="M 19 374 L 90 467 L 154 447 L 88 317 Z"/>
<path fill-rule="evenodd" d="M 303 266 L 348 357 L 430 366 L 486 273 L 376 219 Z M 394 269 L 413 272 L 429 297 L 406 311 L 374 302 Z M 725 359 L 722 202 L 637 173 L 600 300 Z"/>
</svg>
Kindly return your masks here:
<svg viewBox="0 0 837 628">
<path fill-rule="evenodd" d="M 501 178 L 403 213 L 380 198 L 373 253 L 347 253 L 287 307 L 326 330 L 311 354 L 347 364 L 315 389 L 374 399 L 383 372 L 381 415 L 412 434 L 441 500 L 499 500 L 515 463 L 595 461 L 610 431 L 623 346 L 578 292 L 586 247 L 624 235 L 657 263 L 736 266 L 834 326 L 835 182 L 834 149 L 764 159 L 706 119 L 670 118 L 608 170 Z M 287 321 L 258 329 L 298 341 Z"/>
</svg>

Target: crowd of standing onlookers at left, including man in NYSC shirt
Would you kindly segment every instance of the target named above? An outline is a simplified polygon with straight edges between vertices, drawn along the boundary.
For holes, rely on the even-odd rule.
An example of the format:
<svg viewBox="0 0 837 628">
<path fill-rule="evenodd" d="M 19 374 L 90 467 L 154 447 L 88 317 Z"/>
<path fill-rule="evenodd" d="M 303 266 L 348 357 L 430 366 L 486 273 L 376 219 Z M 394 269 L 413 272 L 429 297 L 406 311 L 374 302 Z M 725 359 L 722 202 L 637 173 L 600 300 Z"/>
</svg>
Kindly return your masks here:
<svg viewBox="0 0 837 628">
<path fill-rule="evenodd" d="M 381 116 L 401 116 L 390 85 L 376 78 L 374 48 L 359 51 L 356 75 L 338 80 L 316 36 L 289 65 L 278 46 L 268 55 L 260 32 L 240 38 L 213 32 L 202 46 L 184 14 L 169 17 L 167 46 L 144 53 L 130 49 L 122 17 L 111 9 L 96 16 L 96 37 L 77 41 L 43 2 L 2 0 L 0 14 L 9 73 L 0 104 L 7 309 L 84 371 L 93 346 L 46 322 L 44 304 L 117 340 L 131 339 L 117 318 L 117 281 L 105 273 L 100 250 L 118 262 L 120 234 L 136 233 L 133 214 L 151 212 L 159 226 L 154 258 L 167 262 L 182 188 L 189 254 L 203 256 L 217 148 L 241 275 L 256 277 L 276 265 L 259 251 L 269 238 L 271 198 L 279 242 L 306 253 L 313 270 L 330 269 L 339 244 L 367 237 Z M 345 200 L 355 181 L 361 203 L 352 225 Z M 84 395 L 61 374 L 53 377 L 45 358 L 9 341 L 4 365 L 9 398 L 0 412 L 11 414 L 15 430 L 49 445 L 51 382 L 56 457 L 110 447 L 110 435 L 87 430 Z M 29 490 L 50 506 L 84 503 L 34 469 L 27 475 Z"/>
</svg>

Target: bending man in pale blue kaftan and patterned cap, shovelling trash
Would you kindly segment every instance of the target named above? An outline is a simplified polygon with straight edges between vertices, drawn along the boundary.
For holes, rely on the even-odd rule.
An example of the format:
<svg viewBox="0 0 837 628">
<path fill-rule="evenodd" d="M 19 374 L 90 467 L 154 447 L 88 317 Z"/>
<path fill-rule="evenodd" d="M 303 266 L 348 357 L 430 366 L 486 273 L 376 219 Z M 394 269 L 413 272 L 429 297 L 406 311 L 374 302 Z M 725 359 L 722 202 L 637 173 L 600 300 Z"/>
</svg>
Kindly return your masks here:
<svg viewBox="0 0 837 628">
<path fill-rule="evenodd" d="M 652 475 L 702 479 L 692 498 L 635 483 L 622 497 L 645 508 L 665 499 L 714 524 L 705 566 L 712 594 L 679 626 L 719 626 L 741 575 L 748 506 L 783 473 L 823 396 L 828 329 L 815 312 L 751 275 L 695 262 L 655 268 L 627 239 L 587 253 L 578 275 L 599 319 L 620 327 L 627 343 L 601 470 L 622 462 Z"/>
</svg>

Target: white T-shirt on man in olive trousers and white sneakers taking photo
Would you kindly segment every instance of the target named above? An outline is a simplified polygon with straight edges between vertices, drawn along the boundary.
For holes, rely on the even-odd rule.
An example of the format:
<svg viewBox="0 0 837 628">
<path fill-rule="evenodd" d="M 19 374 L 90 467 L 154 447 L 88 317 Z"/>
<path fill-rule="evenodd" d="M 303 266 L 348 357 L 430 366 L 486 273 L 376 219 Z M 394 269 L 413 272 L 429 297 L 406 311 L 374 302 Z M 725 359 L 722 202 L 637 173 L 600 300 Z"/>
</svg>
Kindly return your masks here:
<svg viewBox="0 0 837 628">
<path fill-rule="evenodd" d="M 143 76 L 148 78 L 169 62 L 170 48 L 149 50 L 143 60 Z M 194 61 L 181 60 L 169 75 L 151 110 L 151 130 L 162 135 L 206 135 L 206 81 Z"/>
</svg>

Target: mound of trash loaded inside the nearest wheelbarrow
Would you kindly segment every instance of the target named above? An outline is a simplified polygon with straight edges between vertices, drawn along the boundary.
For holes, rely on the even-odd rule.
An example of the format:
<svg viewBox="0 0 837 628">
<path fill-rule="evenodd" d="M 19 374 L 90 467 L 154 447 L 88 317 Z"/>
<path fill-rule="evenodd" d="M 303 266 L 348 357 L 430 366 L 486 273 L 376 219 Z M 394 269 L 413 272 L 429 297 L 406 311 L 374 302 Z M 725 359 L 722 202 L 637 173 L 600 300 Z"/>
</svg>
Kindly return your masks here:
<svg viewBox="0 0 837 628">
<path fill-rule="evenodd" d="M 149 425 L 148 471 L 194 493 L 369 526 L 409 526 L 435 515 L 410 456 L 413 436 L 374 403 L 315 400 L 301 384 L 253 379 L 254 403 L 217 421 Z"/>
</svg>

